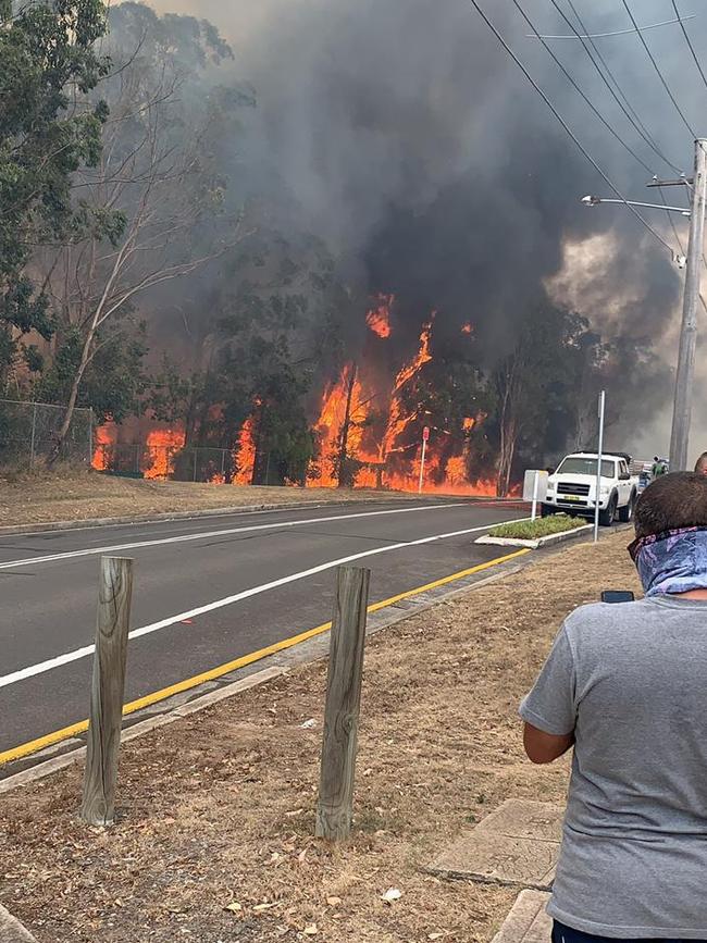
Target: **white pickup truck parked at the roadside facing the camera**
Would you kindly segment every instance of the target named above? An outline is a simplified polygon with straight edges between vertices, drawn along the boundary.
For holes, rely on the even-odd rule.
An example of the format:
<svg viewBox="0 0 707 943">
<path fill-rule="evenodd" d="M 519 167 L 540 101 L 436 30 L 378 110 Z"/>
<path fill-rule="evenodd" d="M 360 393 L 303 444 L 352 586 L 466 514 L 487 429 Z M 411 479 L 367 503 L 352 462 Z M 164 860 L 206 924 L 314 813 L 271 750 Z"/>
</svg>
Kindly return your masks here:
<svg viewBox="0 0 707 943">
<path fill-rule="evenodd" d="M 594 517 L 596 507 L 596 452 L 575 452 L 566 456 L 547 480 L 547 494 L 543 501 L 543 516 L 558 511 L 579 517 Z M 605 454 L 601 457 L 601 486 L 599 491 L 599 523 L 609 526 L 619 517 L 628 522 L 633 518 L 638 496 L 638 476 L 632 475 L 631 457 Z"/>
</svg>

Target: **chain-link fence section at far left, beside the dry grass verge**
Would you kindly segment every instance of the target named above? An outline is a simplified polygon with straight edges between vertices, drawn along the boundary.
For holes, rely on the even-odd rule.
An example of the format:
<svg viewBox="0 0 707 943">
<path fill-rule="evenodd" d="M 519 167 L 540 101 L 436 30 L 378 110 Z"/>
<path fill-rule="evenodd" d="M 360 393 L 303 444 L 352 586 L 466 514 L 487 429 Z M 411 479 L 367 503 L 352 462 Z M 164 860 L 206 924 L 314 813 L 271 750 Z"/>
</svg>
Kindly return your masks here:
<svg viewBox="0 0 707 943">
<path fill-rule="evenodd" d="M 0 468 L 32 469 L 46 460 L 65 414 L 64 406 L 0 399 Z M 60 458 L 90 466 L 92 456 L 92 411 L 75 409 Z"/>
</svg>

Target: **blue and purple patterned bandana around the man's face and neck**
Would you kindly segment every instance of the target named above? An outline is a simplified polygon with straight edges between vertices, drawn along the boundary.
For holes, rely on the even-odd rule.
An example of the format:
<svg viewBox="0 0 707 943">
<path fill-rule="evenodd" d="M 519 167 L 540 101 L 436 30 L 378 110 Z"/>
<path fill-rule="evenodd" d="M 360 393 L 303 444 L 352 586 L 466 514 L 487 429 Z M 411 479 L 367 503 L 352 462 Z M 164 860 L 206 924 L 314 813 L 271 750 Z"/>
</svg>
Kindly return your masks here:
<svg viewBox="0 0 707 943">
<path fill-rule="evenodd" d="M 707 528 L 650 534 L 629 546 L 646 596 L 707 590 Z"/>
</svg>

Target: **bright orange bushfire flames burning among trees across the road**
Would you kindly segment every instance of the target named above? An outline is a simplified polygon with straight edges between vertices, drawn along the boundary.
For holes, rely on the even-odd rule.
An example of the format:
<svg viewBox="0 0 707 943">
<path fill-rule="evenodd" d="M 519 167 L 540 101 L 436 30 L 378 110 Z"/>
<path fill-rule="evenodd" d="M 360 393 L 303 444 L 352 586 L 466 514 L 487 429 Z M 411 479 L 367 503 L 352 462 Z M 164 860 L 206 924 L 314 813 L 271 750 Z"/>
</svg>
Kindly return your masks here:
<svg viewBox="0 0 707 943">
<path fill-rule="evenodd" d="M 384 345 L 389 344 L 393 335 L 390 315 L 394 303 L 393 295 L 380 295 L 375 299 L 365 317 L 369 339 L 360 362 L 346 363 L 338 379 L 323 392 L 319 414 L 313 422 L 318 454 L 305 483 L 326 487 L 350 485 L 418 491 L 422 436 L 426 427 L 429 441 L 422 470 L 423 492 L 495 495 L 495 482 L 470 480 L 474 464 L 471 432 L 485 417 L 468 417 L 463 429 L 457 431 L 460 434 L 454 435 L 451 430 L 439 427 L 435 417 L 426 414 L 421 406 L 410 405 L 415 402 L 415 382 L 432 360 L 435 312 L 423 325 L 413 356 L 397 369 L 393 381 L 382 383 L 376 364 L 385 360 L 383 355 L 388 353 Z M 463 334 L 472 331 L 470 323 L 461 328 Z M 253 409 L 257 406 L 256 402 Z M 237 433 L 237 447 L 232 456 L 227 452 L 224 456 L 222 451 L 220 460 L 215 455 L 204 462 L 195 455 L 194 480 L 251 484 L 257 463 L 255 431 L 253 414 Z M 189 480 L 191 466 L 187 454 L 194 449 L 185 448 L 185 438 L 182 429 L 152 427 L 141 439 L 145 445 L 129 445 L 121 442 L 121 430 L 109 424 L 97 431 L 94 467 L 115 470 L 120 464 L 121 470 L 125 470 L 124 466 L 129 466 L 133 460 L 134 468 L 127 468 L 127 471 L 144 477 L 179 476 Z M 455 450 L 452 442 L 461 445 L 457 445 Z M 133 454 L 126 452 L 131 448 Z M 124 459 L 119 462 L 116 457 L 125 455 L 127 462 Z"/>
</svg>

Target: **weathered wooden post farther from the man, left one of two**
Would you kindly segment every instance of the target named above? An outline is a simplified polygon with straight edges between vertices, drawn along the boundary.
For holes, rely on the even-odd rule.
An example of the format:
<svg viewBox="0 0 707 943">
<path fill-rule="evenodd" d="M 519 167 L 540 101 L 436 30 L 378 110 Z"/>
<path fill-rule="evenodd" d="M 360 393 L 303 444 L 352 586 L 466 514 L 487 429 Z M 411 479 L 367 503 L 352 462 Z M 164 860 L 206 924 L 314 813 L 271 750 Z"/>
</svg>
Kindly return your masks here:
<svg viewBox="0 0 707 943">
<path fill-rule="evenodd" d="M 133 560 L 101 557 L 88 749 L 80 807 L 80 817 L 89 826 L 110 826 L 115 814 L 132 596 Z"/>
</svg>

